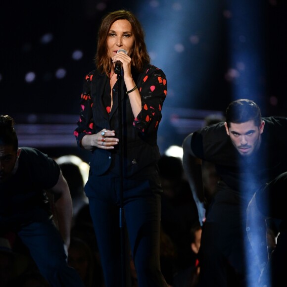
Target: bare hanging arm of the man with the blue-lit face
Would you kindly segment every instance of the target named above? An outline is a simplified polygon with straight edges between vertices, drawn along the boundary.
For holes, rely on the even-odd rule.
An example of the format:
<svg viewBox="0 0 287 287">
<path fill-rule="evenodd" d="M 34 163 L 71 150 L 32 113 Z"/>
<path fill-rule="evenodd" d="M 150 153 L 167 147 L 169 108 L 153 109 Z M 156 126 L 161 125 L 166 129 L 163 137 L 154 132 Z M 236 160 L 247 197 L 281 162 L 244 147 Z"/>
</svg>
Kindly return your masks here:
<svg viewBox="0 0 287 287">
<path fill-rule="evenodd" d="M 197 206 L 200 225 L 205 221 L 204 190 L 202 181 L 201 159 L 195 157 L 191 150 L 192 134 L 187 136 L 183 142 L 183 167 L 191 192 Z"/>
</svg>

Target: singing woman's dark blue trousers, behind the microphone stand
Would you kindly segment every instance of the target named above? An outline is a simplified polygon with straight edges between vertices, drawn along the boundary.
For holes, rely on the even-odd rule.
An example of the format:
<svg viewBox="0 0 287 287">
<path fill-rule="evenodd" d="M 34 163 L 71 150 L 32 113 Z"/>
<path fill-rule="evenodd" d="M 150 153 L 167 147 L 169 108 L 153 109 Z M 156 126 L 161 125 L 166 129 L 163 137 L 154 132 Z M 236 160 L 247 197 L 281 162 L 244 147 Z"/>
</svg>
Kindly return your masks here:
<svg viewBox="0 0 287 287">
<path fill-rule="evenodd" d="M 106 287 L 122 286 L 121 267 L 128 274 L 130 254 L 135 263 L 139 287 L 167 287 L 159 260 L 161 187 L 158 178 L 123 180 L 123 209 L 128 234 L 125 242 L 129 240 L 130 246 L 124 254 L 125 264 L 121 259 L 119 178 L 92 175 L 85 191 L 89 197 Z M 130 284 L 129 279 L 127 275 L 126 286 Z"/>
</svg>

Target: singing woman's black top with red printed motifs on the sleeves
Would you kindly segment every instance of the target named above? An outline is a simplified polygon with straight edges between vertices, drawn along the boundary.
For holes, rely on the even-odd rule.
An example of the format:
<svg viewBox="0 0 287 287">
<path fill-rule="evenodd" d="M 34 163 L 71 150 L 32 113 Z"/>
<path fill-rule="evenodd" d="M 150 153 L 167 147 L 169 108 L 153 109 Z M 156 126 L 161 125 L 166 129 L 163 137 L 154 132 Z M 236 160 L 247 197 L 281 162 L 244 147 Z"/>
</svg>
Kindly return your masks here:
<svg viewBox="0 0 287 287">
<path fill-rule="evenodd" d="M 122 130 L 124 139 L 123 173 L 125 177 L 140 172 L 148 175 L 154 172 L 154 166 L 160 158 L 157 145 L 157 130 L 161 120 L 161 108 L 166 96 L 166 79 L 162 70 L 147 65 L 141 74 L 133 73 L 133 78 L 142 95 L 142 111 L 135 118 L 129 97 L 126 95 L 122 79 Z M 116 93 L 117 84 L 113 88 Z M 114 95 L 111 111 L 108 113 L 103 102 L 104 93 L 110 93 L 108 77 L 92 71 L 86 76 L 81 96 L 81 112 L 78 127 L 75 130 L 77 143 L 87 134 L 96 134 L 102 129 L 119 131 L 118 97 Z M 95 148 L 90 162 L 91 172 L 102 175 L 107 171 L 119 174 L 119 147 L 114 149 Z M 151 169 L 150 169 L 151 167 Z"/>
</svg>

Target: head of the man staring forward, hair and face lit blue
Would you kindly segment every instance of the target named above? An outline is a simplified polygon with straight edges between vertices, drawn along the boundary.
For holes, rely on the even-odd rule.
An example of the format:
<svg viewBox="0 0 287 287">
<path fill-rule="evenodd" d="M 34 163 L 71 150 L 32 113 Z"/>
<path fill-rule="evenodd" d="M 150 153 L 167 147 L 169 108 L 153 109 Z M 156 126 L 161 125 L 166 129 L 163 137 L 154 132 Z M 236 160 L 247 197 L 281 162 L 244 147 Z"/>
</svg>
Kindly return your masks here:
<svg viewBox="0 0 287 287">
<path fill-rule="evenodd" d="M 264 124 L 260 108 L 252 100 L 235 100 L 226 109 L 226 132 L 242 156 L 251 155 L 259 148 Z"/>
</svg>

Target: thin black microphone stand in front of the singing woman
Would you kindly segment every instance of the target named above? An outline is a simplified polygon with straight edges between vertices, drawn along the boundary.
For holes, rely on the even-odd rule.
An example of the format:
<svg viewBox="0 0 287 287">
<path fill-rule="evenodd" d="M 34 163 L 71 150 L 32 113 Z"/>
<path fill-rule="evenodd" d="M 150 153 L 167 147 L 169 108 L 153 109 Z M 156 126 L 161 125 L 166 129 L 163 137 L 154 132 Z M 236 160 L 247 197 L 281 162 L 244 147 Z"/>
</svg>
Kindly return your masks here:
<svg viewBox="0 0 287 287">
<path fill-rule="evenodd" d="M 120 152 L 120 209 L 119 209 L 119 227 L 121 233 L 121 272 L 122 287 L 126 287 L 126 260 L 125 260 L 125 212 L 123 202 L 123 128 L 122 128 L 122 75 L 121 70 L 115 71 L 118 79 L 118 109 L 119 109 L 119 152 Z"/>
</svg>

